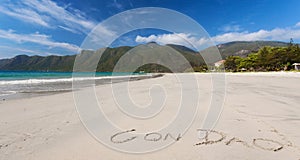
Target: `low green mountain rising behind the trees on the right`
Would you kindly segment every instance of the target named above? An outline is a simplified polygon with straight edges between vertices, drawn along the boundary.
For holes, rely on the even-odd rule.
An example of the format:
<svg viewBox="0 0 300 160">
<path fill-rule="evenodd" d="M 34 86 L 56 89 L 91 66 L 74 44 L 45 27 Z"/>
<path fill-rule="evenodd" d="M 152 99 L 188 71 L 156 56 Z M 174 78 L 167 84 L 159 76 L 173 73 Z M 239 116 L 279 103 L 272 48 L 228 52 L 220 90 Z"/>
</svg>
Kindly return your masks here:
<svg viewBox="0 0 300 160">
<path fill-rule="evenodd" d="M 264 46 L 287 47 L 289 43 L 278 41 L 234 41 L 217 45 L 222 57 L 228 56 L 246 57 L 251 52 L 257 52 Z"/>
</svg>

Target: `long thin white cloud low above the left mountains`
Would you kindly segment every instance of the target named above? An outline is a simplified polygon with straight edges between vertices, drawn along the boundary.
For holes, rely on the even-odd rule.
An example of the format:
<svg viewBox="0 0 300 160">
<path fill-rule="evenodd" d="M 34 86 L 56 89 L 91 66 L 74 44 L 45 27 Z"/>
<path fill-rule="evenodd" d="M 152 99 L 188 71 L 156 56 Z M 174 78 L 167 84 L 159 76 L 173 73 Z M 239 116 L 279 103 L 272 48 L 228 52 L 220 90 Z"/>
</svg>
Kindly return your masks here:
<svg viewBox="0 0 300 160">
<path fill-rule="evenodd" d="M 56 42 L 51 39 L 51 36 L 40 34 L 38 32 L 33 34 L 17 34 L 12 30 L 5 31 L 0 29 L 0 38 L 8 39 L 18 43 L 35 43 L 47 46 L 49 48 L 62 48 L 75 53 L 77 53 L 80 50 L 80 48 L 77 45 L 65 42 Z"/>
</svg>

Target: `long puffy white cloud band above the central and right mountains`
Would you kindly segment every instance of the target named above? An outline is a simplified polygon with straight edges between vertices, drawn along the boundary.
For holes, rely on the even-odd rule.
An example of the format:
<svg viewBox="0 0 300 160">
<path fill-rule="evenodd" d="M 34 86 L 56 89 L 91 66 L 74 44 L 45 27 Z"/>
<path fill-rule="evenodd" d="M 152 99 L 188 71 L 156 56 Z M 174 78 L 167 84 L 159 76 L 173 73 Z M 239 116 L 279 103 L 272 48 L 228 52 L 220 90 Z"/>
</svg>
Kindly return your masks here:
<svg viewBox="0 0 300 160">
<path fill-rule="evenodd" d="M 211 40 L 204 38 L 197 38 L 191 34 L 173 33 L 150 35 L 148 37 L 137 36 L 135 41 L 137 43 L 157 42 L 159 44 L 179 44 L 191 47 L 191 44 L 196 48 L 214 42 L 216 44 L 226 43 L 232 41 L 255 41 L 255 40 L 273 40 L 273 41 L 289 41 L 290 38 L 300 40 L 299 28 L 275 28 L 272 30 L 259 30 L 257 32 L 228 32 L 211 37 Z"/>
</svg>

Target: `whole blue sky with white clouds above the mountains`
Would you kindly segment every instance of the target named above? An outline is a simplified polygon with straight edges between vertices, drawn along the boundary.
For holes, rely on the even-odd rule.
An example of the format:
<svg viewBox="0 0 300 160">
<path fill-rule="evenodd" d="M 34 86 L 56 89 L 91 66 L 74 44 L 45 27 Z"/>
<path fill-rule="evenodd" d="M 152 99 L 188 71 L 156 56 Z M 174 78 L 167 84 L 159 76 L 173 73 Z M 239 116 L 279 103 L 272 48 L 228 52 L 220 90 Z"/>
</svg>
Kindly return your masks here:
<svg viewBox="0 0 300 160">
<path fill-rule="evenodd" d="M 0 0 L 0 59 L 19 54 L 76 54 L 98 24 L 140 7 L 162 7 L 182 13 L 200 24 L 215 44 L 289 42 L 291 38 L 299 43 L 299 6 L 299 0 Z M 105 31 L 112 33 L 109 28 Z M 203 39 L 189 32 L 140 29 L 119 37 L 111 46 L 152 41 L 162 45 L 203 43 Z"/>
</svg>

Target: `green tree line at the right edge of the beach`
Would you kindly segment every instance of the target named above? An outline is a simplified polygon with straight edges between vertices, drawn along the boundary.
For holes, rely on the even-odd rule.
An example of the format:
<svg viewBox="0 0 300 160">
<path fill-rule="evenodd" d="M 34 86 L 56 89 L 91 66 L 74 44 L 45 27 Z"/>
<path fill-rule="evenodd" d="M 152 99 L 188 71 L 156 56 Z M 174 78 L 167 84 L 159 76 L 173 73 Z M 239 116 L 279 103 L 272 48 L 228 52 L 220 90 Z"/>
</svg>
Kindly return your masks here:
<svg viewBox="0 0 300 160">
<path fill-rule="evenodd" d="M 265 46 L 245 58 L 228 56 L 224 66 L 231 72 L 288 71 L 294 69 L 294 63 L 300 63 L 300 48 L 291 40 L 287 47 Z"/>
</svg>

